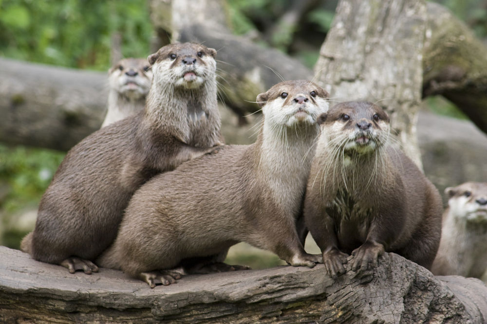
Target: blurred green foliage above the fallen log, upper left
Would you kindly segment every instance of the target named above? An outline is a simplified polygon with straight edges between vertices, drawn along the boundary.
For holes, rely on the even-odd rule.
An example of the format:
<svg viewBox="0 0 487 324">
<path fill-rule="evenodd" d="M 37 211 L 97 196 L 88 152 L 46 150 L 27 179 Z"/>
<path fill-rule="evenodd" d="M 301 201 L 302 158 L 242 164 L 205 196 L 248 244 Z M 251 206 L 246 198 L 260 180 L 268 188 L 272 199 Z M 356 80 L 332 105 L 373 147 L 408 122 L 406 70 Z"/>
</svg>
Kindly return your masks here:
<svg viewBox="0 0 487 324">
<path fill-rule="evenodd" d="M 111 36 L 124 56 L 147 56 L 152 27 L 146 0 L 3 0 L 0 55 L 72 68 L 106 70 Z"/>
</svg>

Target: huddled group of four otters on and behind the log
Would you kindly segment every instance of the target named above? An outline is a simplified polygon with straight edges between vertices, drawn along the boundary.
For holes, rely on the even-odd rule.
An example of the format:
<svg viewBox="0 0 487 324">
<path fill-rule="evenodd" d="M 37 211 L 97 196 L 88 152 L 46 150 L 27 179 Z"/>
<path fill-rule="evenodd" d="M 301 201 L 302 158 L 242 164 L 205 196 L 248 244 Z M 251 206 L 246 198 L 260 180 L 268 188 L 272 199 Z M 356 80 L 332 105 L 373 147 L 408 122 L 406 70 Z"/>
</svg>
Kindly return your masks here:
<svg viewBox="0 0 487 324">
<path fill-rule="evenodd" d="M 225 145 L 215 55 L 177 43 L 110 70 L 104 127 L 60 164 L 23 251 L 71 273 L 121 269 L 151 288 L 247 269 L 223 262 L 241 241 L 293 266 L 324 263 L 331 276 L 350 254 L 357 272 L 384 252 L 431 268 L 441 198 L 392 144 L 381 107 L 329 109 L 318 85 L 284 81 L 257 96 L 257 141 Z M 307 229 L 322 254 L 304 251 Z"/>
</svg>

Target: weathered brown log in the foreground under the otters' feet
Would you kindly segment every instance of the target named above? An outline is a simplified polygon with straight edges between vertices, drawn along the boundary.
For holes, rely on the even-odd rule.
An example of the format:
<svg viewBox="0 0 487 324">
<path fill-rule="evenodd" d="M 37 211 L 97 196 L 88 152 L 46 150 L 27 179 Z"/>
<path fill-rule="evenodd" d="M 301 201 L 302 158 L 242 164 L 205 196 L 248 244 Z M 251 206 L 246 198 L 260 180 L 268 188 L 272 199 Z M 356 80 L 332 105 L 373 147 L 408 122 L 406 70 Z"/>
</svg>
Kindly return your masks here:
<svg viewBox="0 0 487 324">
<path fill-rule="evenodd" d="M 125 274 L 70 274 L 0 247 L 2 323 L 485 323 L 487 287 L 434 277 L 385 254 L 364 283 L 350 269 L 336 280 L 322 265 L 183 277 L 149 286 Z M 369 279 L 370 280 L 370 279 Z"/>
</svg>

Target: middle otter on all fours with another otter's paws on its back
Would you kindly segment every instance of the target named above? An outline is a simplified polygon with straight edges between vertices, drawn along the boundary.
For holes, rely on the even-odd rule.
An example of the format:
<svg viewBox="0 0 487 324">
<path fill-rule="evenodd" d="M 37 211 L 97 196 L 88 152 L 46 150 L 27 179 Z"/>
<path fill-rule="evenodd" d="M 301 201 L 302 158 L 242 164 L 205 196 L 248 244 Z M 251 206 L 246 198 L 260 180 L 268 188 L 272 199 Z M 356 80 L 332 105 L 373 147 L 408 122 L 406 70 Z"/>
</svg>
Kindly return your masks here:
<svg viewBox="0 0 487 324">
<path fill-rule="evenodd" d="M 293 266 L 313 267 L 320 256 L 304 252 L 295 222 L 319 131 L 316 118 L 328 110 L 327 97 L 304 80 L 260 94 L 264 121 L 257 141 L 222 147 L 139 188 L 115 242 L 97 263 L 153 288 L 185 274 L 179 267 L 185 259 L 224 257 L 244 241 Z"/>
</svg>

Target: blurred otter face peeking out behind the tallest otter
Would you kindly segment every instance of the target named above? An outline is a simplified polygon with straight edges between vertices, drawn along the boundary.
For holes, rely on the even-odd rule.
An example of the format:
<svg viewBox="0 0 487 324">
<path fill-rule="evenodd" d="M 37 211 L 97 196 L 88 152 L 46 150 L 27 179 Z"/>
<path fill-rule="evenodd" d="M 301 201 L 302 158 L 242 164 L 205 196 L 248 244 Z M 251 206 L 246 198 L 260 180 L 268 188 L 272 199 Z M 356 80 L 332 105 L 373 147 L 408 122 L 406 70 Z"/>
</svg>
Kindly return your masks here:
<svg viewBox="0 0 487 324">
<path fill-rule="evenodd" d="M 145 58 L 126 58 L 108 71 L 112 90 L 129 100 L 137 100 L 149 93 L 152 71 Z"/>
</svg>

